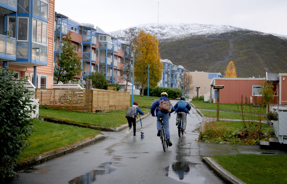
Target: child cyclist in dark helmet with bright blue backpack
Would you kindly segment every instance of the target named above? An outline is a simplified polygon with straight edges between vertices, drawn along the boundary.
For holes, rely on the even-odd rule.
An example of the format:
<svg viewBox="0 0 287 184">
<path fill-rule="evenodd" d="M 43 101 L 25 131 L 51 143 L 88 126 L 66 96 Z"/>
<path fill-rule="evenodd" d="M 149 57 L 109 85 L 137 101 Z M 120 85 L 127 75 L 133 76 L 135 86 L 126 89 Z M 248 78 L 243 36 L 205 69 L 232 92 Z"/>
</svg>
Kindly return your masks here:
<svg viewBox="0 0 287 184">
<path fill-rule="evenodd" d="M 182 114 L 182 116 L 181 116 L 182 124 L 183 124 L 182 130 L 183 130 L 183 133 L 186 133 L 185 132 L 186 114 L 189 114 L 189 111 L 191 109 L 191 105 L 188 102 L 185 102 L 185 97 L 182 96 L 182 97 L 180 97 L 180 101 L 174 105 L 174 109 L 175 109 L 174 113 L 177 113 L 176 125 L 179 123 L 179 120 L 180 120 L 180 116 L 178 115 L 178 113 L 180 112 Z"/>
</svg>

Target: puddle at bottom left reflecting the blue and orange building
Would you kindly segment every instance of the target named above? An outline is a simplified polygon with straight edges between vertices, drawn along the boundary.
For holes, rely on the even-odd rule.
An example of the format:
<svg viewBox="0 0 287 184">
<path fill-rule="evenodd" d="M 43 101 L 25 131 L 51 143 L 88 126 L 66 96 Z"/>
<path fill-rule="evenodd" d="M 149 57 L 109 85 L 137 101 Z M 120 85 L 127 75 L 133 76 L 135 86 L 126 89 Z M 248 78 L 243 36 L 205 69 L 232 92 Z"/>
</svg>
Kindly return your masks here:
<svg viewBox="0 0 287 184">
<path fill-rule="evenodd" d="M 69 181 L 69 184 L 89 184 L 96 180 L 97 175 L 106 175 L 110 174 L 111 172 L 117 170 L 117 168 L 110 168 L 109 166 L 112 164 L 118 164 L 119 162 L 106 162 L 103 163 L 101 166 L 98 166 L 99 168 L 104 168 L 102 170 L 92 170 L 91 172 L 76 177 Z"/>
</svg>

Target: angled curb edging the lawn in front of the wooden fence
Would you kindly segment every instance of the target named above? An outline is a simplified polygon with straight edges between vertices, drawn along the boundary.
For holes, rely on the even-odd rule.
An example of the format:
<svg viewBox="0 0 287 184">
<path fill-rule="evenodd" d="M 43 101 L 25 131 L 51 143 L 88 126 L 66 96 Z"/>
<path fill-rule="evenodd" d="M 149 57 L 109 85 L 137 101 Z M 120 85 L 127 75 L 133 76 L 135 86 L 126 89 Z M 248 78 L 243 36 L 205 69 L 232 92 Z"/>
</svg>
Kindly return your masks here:
<svg viewBox="0 0 287 184">
<path fill-rule="evenodd" d="M 150 115 L 150 112 L 148 112 L 148 114 L 141 116 L 141 119 L 146 118 L 148 115 Z M 73 125 L 73 126 L 77 126 L 77 127 L 84 127 L 84 128 L 90 128 L 90 129 L 95 129 L 95 130 L 100 130 L 100 131 L 109 131 L 109 132 L 119 132 L 122 131 L 124 129 L 126 129 L 127 127 L 129 127 L 129 124 L 123 124 L 120 127 L 100 127 L 100 126 L 93 126 L 93 125 L 88 125 L 88 124 L 78 124 L 75 122 L 71 122 L 71 121 L 65 121 L 65 120 L 59 120 L 56 118 L 50 118 L 50 117 L 46 117 L 46 116 L 42 116 L 42 118 L 44 118 L 45 121 L 48 122 L 53 122 L 53 123 L 58 123 L 58 124 L 68 124 L 68 125 Z M 140 120 L 136 120 L 136 122 L 139 122 Z"/>
</svg>

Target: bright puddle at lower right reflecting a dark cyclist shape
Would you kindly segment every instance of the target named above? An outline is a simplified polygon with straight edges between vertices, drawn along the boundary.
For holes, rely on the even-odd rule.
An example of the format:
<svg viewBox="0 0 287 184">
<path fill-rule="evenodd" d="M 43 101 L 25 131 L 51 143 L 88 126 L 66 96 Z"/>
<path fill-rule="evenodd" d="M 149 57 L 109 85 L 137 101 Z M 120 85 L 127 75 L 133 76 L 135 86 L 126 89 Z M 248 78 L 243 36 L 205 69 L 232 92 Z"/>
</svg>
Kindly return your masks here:
<svg viewBox="0 0 287 184">
<path fill-rule="evenodd" d="M 203 183 L 205 178 L 198 172 L 196 165 L 188 161 L 175 162 L 165 168 L 166 176 L 186 183 Z"/>
</svg>

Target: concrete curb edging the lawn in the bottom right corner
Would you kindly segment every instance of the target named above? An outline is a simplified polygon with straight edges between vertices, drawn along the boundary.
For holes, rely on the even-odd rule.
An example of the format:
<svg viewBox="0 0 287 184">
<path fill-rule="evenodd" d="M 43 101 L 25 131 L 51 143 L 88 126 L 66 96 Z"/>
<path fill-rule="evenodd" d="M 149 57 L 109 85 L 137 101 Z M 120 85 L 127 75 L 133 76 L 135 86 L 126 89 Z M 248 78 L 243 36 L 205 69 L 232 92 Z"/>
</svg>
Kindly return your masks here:
<svg viewBox="0 0 287 184">
<path fill-rule="evenodd" d="M 240 179 L 236 178 L 234 175 L 230 174 L 227 170 L 222 168 L 217 162 L 215 162 L 212 158 L 203 157 L 203 162 L 222 180 L 226 183 L 230 184 L 246 184 Z"/>
</svg>

